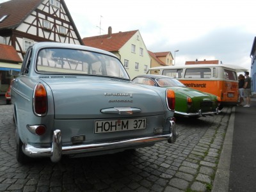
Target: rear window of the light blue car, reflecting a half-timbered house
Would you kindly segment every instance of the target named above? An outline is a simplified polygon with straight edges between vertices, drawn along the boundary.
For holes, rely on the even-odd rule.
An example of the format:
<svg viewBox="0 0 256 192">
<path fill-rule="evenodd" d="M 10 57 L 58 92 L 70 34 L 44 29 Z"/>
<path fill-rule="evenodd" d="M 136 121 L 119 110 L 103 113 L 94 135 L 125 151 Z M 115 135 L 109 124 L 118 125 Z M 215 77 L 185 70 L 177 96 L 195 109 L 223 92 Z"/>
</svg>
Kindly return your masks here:
<svg viewBox="0 0 256 192">
<path fill-rule="evenodd" d="M 129 79 L 124 66 L 115 57 L 77 49 L 40 50 L 36 70 L 44 74 L 86 74 Z"/>
</svg>

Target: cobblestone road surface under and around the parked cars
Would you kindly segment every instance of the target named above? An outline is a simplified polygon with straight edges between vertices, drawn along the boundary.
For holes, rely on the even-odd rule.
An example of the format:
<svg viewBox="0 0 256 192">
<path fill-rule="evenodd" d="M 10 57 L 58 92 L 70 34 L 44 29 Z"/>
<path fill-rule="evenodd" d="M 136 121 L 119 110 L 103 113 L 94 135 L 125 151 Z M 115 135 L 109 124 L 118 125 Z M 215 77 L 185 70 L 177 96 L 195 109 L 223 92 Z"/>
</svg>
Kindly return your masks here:
<svg viewBox="0 0 256 192">
<path fill-rule="evenodd" d="M 175 144 L 59 163 L 15 159 L 10 105 L 0 105 L 0 191 L 211 191 L 232 108 L 220 115 L 177 119 Z"/>
</svg>

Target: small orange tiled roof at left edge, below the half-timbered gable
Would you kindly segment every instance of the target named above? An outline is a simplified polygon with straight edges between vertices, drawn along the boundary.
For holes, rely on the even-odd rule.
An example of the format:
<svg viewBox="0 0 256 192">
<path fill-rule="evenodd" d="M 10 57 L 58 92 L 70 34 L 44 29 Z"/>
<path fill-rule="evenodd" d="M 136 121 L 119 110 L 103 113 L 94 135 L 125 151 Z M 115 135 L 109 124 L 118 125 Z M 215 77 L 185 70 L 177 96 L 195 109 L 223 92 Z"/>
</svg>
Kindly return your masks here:
<svg viewBox="0 0 256 192">
<path fill-rule="evenodd" d="M 0 50 L 0 61 L 22 62 L 14 47 L 0 44 Z"/>
</svg>

